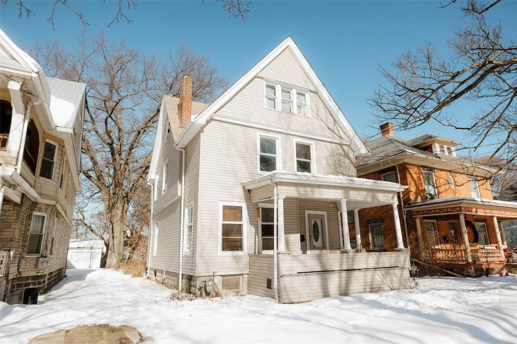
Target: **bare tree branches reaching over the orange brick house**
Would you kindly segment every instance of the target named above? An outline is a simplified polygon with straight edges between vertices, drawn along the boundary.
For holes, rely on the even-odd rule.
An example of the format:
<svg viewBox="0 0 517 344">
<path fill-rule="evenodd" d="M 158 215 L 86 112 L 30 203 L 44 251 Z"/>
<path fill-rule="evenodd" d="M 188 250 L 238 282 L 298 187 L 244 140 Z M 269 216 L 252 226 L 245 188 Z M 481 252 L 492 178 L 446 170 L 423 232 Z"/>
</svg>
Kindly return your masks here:
<svg viewBox="0 0 517 344">
<path fill-rule="evenodd" d="M 453 3 L 454 1 L 452 1 Z M 501 23 L 489 24 L 486 11 L 499 1 L 469 0 L 462 11 L 470 26 L 458 28 L 449 39 L 454 53 L 443 59 L 426 42 L 393 62 L 394 72 L 380 68 L 387 81 L 369 99 L 379 121 L 392 121 L 410 129 L 437 121 L 464 129 L 479 149 L 488 139 L 496 141 L 492 157 L 508 163 L 517 159 L 517 44 L 503 40 Z M 503 3 L 501 3 L 503 4 Z M 504 6 L 504 5 L 503 5 Z M 475 116 L 461 119 L 447 112 L 459 100 L 486 104 Z"/>
</svg>

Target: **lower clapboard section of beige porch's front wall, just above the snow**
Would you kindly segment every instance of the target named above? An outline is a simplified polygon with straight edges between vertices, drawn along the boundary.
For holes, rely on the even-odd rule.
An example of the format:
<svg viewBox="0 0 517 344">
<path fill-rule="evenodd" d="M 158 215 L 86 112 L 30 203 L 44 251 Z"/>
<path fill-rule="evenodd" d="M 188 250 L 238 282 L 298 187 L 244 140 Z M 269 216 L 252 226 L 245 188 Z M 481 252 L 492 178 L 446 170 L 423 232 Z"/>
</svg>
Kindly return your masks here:
<svg viewBox="0 0 517 344">
<path fill-rule="evenodd" d="M 307 302 L 325 297 L 406 289 L 411 286 L 409 271 L 401 268 L 288 275 L 280 277 L 280 302 Z"/>
</svg>

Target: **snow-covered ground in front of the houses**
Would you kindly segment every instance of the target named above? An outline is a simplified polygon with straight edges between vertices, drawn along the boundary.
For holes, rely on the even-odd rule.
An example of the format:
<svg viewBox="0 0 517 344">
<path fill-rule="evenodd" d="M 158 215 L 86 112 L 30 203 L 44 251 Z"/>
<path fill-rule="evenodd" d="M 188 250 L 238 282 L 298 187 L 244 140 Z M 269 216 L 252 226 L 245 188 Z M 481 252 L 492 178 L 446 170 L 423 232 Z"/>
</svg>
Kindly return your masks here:
<svg viewBox="0 0 517 344">
<path fill-rule="evenodd" d="M 130 325 L 155 343 L 517 343 L 517 275 L 421 278 L 417 287 L 276 304 L 254 296 L 177 301 L 112 270 L 68 270 L 37 305 L 0 303 L 0 342 L 84 324 Z"/>
</svg>

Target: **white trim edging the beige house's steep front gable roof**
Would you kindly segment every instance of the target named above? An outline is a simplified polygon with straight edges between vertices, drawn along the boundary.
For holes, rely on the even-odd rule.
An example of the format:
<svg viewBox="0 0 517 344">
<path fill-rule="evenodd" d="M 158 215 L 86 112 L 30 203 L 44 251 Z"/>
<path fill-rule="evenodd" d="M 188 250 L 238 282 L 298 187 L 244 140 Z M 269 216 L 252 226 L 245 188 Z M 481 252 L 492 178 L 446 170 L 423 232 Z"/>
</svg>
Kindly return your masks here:
<svg viewBox="0 0 517 344">
<path fill-rule="evenodd" d="M 303 56 L 302 52 L 291 37 L 287 37 L 283 40 L 275 49 L 267 54 L 262 60 L 254 65 L 244 76 L 238 79 L 229 89 L 227 89 L 222 95 L 220 95 L 216 101 L 208 106 L 200 116 L 197 116 L 191 121 L 187 127 L 183 130 L 183 133 L 176 140 L 175 144 L 179 148 L 185 148 L 188 142 L 201 130 L 201 128 L 214 116 L 214 114 L 221 109 L 227 102 L 229 102 L 240 90 L 242 90 L 248 83 L 257 76 L 257 74 L 263 70 L 272 60 L 277 58 L 285 49 L 290 49 L 293 56 L 300 64 L 303 71 L 307 74 L 311 82 L 316 88 L 318 94 L 321 95 L 325 106 L 329 109 L 334 120 L 341 127 L 343 132 L 351 140 L 352 150 L 355 155 L 367 153 L 366 146 L 362 143 L 361 139 L 355 132 L 354 128 L 350 125 L 348 120 L 345 118 L 343 112 L 341 112 L 337 103 L 333 100 L 330 93 L 323 85 L 320 78 L 316 75 L 311 65 Z"/>
</svg>

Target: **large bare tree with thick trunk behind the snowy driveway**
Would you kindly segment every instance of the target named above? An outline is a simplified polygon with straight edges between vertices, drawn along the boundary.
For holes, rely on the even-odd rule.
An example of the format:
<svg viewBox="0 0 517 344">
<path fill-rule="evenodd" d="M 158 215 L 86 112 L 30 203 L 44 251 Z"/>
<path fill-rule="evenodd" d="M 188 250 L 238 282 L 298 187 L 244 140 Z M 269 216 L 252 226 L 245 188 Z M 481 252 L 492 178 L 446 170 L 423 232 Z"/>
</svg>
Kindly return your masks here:
<svg viewBox="0 0 517 344">
<path fill-rule="evenodd" d="M 87 84 L 83 197 L 100 204 L 109 220 L 107 267 L 115 268 L 123 259 L 132 202 L 137 197 L 149 202 L 142 188 L 163 94 L 177 96 L 180 77 L 189 75 L 193 99 L 209 101 L 227 81 L 217 76 L 217 68 L 210 67 L 206 57 L 185 45 L 161 61 L 124 41 L 112 43 L 103 34 L 93 39 L 83 34 L 74 51 L 65 51 L 59 42 L 36 46 L 31 56 L 37 57 L 48 76 Z M 83 220 L 87 224 L 86 216 Z"/>
</svg>

